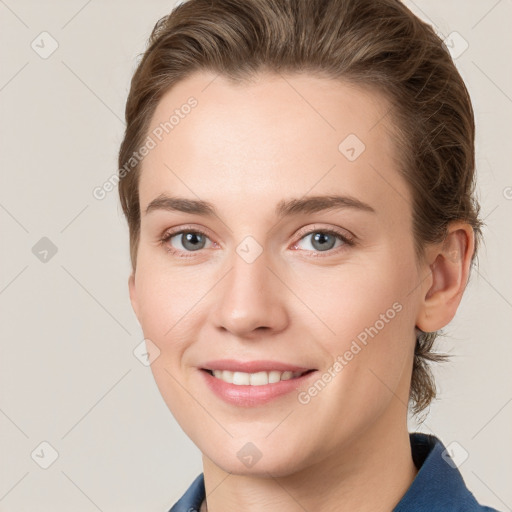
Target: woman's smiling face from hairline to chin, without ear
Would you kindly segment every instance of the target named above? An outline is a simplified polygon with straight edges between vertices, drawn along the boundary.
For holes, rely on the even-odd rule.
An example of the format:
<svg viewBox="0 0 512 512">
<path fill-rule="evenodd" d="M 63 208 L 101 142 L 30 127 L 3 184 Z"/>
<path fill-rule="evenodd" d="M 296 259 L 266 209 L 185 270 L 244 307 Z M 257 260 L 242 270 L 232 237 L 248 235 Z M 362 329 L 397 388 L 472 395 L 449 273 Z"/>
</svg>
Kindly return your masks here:
<svg viewBox="0 0 512 512">
<path fill-rule="evenodd" d="M 422 268 L 388 108 L 196 73 L 156 109 L 130 294 L 165 402 L 225 471 L 291 474 L 406 423 Z"/>
</svg>

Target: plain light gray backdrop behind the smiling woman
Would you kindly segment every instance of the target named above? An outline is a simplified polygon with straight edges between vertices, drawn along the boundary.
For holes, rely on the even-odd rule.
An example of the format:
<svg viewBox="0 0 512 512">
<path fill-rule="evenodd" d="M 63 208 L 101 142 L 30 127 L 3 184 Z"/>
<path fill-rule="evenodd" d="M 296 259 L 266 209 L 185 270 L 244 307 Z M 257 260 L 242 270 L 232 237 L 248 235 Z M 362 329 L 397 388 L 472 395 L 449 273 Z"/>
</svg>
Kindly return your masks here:
<svg viewBox="0 0 512 512">
<path fill-rule="evenodd" d="M 455 61 L 486 222 L 479 270 L 438 344 L 454 356 L 435 371 L 440 400 L 410 430 L 459 443 L 477 499 L 512 510 L 512 2 L 406 3 L 469 44 Z M 202 470 L 133 354 L 143 336 L 117 190 L 92 196 L 116 172 L 137 56 L 173 5 L 0 0 L 0 511 L 166 511 Z M 31 47 L 51 48 L 43 31 L 58 43 L 46 59 Z M 46 262 L 32 251 L 42 237 L 57 247 Z M 44 441 L 58 452 L 48 469 Z"/>
</svg>

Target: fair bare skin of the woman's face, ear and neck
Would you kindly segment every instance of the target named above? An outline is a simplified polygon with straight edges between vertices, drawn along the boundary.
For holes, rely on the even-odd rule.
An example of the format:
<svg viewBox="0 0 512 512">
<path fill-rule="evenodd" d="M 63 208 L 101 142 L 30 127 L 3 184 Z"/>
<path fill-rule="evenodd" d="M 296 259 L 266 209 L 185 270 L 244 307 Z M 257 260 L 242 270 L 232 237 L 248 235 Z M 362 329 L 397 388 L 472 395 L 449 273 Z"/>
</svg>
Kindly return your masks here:
<svg viewBox="0 0 512 512">
<path fill-rule="evenodd" d="M 417 474 L 407 430 L 415 327 L 434 331 L 455 314 L 472 229 L 451 224 L 418 261 L 389 106 L 376 92 L 311 75 L 236 85 L 201 72 L 166 93 L 150 130 L 190 96 L 197 107 L 143 160 L 129 290 L 160 350 L 151 368 L 162 397 L 203 454 L 208 510 L 389 511 Z M 348 134 L 366 146 L 352 162 L 338 150 Z M 162 193 L 209 201 L 218 216 L 145 214 Z M 283 199 L 332 194 L 374 212 L 274 215 Z M 162 243 L 171 228 L 206 231 L 203 248 L 187 252 L 181 235 Z M 322 250 L 307 233 L 325 229 L 355 242 Z M 262 249 L 252 263 L 236 252 L 246 236 Z M 292 392 L 228 405 L 203 382 L 201 363 L 223 358 L 322 374 L 394 303 L 400 312 L 307 404 Z M 237 457 L 248 442 L 262 454 L 250 468 Z"/>
</svg>

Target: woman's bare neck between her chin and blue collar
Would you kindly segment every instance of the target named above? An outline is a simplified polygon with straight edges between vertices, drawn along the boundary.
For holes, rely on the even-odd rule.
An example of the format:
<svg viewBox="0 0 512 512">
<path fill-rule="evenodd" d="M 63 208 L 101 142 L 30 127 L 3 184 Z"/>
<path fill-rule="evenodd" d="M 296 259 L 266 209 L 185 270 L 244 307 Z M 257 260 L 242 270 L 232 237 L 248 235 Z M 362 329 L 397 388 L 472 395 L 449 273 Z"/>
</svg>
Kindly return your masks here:
<svg viewBox="0 0 512 512">
<path fill-rule="evenodd" d="M 417 474 L 406 421 L 387 421 L 396 420 L 396 412 L 326 459 L 284 477 L 231 474 L 203 456 L 208 512 L 389 512 Z"/>
</svg>

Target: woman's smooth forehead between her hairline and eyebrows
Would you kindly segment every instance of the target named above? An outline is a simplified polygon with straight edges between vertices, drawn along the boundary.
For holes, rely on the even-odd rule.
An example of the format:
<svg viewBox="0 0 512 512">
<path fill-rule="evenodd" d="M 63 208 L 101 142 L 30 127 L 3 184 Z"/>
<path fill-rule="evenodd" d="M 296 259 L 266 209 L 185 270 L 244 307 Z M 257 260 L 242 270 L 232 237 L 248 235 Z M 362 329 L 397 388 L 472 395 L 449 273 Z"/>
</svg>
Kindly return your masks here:
<svg viewBox="0 0 512 512">
<path fill-rule="evenodd" d="M 261 74 L 233 83 L 195 73 L 162 97 L 151 119 L 141 210 L 161 193 L 219 205 L 229 193 L 260 207 L 308 191 L 364 189 L 377 203 L 383 192 L 405 197 L 389 113 L 383 95 L 327 78 Z"/>
</svg>

